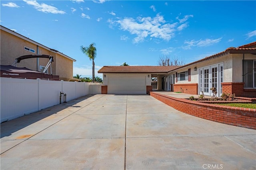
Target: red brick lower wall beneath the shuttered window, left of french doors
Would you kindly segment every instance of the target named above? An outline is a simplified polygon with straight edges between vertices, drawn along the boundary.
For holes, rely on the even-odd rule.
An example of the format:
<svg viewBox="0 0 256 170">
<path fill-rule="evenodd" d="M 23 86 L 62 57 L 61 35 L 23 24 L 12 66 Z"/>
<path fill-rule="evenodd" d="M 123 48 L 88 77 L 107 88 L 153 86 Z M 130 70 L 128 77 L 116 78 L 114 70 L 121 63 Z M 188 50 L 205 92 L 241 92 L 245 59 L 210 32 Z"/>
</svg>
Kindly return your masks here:
<svg viewBox="0 0 256 170">
<path fill-rule="evenodd" d="M 182 88 L 182 93 L 186 94 L 198 94 L 198 84 L 174 84 L 174 92 L 180 92 L 180 88 Z"/>
</svg>

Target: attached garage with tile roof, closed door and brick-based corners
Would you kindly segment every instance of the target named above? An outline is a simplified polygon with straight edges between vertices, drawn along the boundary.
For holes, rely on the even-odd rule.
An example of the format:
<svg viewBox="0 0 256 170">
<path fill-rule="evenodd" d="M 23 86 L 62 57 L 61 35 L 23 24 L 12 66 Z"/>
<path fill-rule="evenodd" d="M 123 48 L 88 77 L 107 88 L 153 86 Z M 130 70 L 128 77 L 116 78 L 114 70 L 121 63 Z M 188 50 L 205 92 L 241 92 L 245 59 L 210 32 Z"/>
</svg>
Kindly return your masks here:
<svg viewBox="0 0 256 170">
<path fill-rule="evenodd" d="M 167 75 L 177 66 L 103 66 L 102 94 L 146 94 L 152 91 L 151 77 Z"/>
</svg>

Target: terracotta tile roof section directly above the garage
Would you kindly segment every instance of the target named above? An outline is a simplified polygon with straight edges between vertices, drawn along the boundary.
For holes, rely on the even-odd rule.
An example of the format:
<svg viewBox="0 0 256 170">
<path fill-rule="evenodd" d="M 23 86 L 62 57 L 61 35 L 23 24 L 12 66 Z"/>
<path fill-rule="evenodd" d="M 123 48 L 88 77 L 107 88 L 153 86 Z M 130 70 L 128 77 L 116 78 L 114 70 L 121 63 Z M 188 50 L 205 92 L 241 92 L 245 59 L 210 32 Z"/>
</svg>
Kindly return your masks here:
<svg viewBox="0 0 256 170">
<path fill-rule="evenodd" d="M 180 66 L 103 66 L 98 73 L 168 73 Z"/>
</svg>

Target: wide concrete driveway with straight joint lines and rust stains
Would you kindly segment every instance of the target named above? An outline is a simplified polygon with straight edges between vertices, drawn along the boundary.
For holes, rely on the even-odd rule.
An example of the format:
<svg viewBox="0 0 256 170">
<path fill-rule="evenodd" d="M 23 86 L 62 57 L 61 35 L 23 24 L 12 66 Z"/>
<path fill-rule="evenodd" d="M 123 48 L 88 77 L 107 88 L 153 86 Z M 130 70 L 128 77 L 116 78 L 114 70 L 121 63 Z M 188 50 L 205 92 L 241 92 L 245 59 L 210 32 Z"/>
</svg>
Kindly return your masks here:
<svg viewBox="0 0 256 170">
<path fill-rule="evenodd" d="M 256 131 L 148 95 L 94 95 L 1 124 L 1 170 L 256 169 Z"/>
</svg>

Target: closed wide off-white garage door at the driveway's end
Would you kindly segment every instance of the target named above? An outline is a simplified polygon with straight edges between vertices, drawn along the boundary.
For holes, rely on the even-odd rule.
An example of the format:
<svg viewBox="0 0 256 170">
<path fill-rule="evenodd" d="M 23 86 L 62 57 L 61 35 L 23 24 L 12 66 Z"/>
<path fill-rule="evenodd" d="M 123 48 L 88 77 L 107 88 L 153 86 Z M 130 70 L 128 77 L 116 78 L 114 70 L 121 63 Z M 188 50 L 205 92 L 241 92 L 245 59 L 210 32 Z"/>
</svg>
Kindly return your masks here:
<svg viewBox="0 0 256 170">
<path fill-rule="evenodd" d="M 146 94 L 146 76 L 108 76 L 108 94 Z"/>
</svg>

